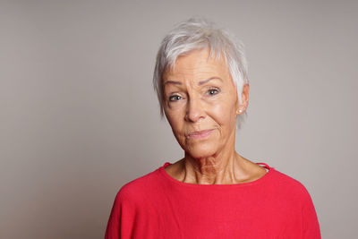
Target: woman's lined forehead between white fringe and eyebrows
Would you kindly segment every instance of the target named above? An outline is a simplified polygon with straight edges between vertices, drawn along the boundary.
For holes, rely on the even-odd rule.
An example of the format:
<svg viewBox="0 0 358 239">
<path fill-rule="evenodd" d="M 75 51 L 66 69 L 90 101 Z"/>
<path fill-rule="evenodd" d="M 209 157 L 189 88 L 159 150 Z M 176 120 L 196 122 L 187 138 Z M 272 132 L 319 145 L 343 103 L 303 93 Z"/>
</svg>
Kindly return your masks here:
<svg viewBox="0 0 358 239">
<path fill-rule="evenodd" d="M 187 55 L 180 55 L 175 65 L 168 67 L 163 74 L 163 80 L 181 80 L 190 78 L 193 81 L 202 78 L 230 76 L 223 57 L 210 56 L 209 50 L 195 50 Z"/>
</svg>

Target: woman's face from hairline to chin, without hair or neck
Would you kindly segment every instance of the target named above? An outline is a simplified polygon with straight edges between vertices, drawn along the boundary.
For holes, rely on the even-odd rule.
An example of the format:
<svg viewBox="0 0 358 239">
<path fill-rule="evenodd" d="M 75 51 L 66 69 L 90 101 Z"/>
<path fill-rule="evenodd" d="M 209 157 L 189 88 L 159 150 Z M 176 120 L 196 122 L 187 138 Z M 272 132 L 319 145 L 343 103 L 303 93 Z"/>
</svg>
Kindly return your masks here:
<svg viewBox="0 0 358 239">
<path fill-rule="evenodd" d="M 179 56 L 163 75 L 164 111 L 176 140 L 193 158 L 234 147 L 237 90 L 222 58 L 209 50 Z"/>
</svg>

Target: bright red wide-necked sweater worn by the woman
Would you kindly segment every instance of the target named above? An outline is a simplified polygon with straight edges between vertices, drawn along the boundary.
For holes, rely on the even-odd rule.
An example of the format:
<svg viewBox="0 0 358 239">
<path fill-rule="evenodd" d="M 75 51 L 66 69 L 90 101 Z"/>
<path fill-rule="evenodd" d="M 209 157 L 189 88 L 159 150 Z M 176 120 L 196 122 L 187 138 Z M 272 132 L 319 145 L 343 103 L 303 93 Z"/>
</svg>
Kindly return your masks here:
<svg viewBox="0 0 358 239">
<path fill-rule="evenodd" d="M 310 194 L 273 167 L 245 184 L 187 184 L 157 170 L 115 197 L 106 239 L 320 238 Z"/>
</svg>

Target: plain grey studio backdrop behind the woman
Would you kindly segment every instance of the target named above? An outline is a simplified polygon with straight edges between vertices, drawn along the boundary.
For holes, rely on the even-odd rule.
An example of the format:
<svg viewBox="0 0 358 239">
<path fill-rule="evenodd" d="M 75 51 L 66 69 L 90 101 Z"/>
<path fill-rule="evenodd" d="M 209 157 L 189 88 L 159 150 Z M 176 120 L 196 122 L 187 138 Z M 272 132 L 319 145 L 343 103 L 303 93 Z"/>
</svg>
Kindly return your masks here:
<svg viewBox="0 0 358 239">
<path fill-rule="evenodd" d="M 161 38 L 193 15 L 246 46 L 237 151 L 306 186 L 323 238 L 354 238 L 357 6 L 1 1 L 0 238 L 102 238 L 119 188 L 183 156 L 151 76 Z"/>
</svg>

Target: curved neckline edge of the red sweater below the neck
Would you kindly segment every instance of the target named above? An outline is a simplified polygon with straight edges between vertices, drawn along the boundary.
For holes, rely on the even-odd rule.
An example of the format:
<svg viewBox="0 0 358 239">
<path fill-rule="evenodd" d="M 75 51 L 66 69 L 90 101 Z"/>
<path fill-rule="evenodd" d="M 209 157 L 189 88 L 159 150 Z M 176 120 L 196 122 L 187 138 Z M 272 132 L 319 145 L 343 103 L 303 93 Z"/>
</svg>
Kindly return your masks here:
<svg viewBox="0 0 358 239">
<path fill-rule="evenodd" d="M 174 184 L 178 184 L 181 186 L 188 186 L 188 187 L 200 187 L 200 188 L 227 188 L 227 187 L 244 187 L 244 186 L 250 186 L 250 185 L 254 185 L 254 184 L 260 184 L 263 183 L 264 181 L 267 181 L 268 178 L 274 173 L 274 171 L 276 171 L 276 169 L 272 166 L 268 166 L 265 163 L 256 163 L 259 166 L 264 167 L 265 169 L 267 169 L 267 172 L 265 175 L 261 176 L 259 179 L 256 179 L 254 181 L 248 182 L 248 183 L 242 183 L 242 184 L 189 184 L 189 183 L 183 183 L 179 180 L 176 180 L 174 177 L 172 177 L 171 175 L 168 175 L 168 173 L 166 173 L 166 166 L 170 166 L 172 165 L 172 163 L 170 162 L 166 162 L 163 166 L 160 166 L 158 168 L 158 171 L 161 175 L 163 175 L 166 180 L 168 180 L 171 183 Z"/>
</svg>

